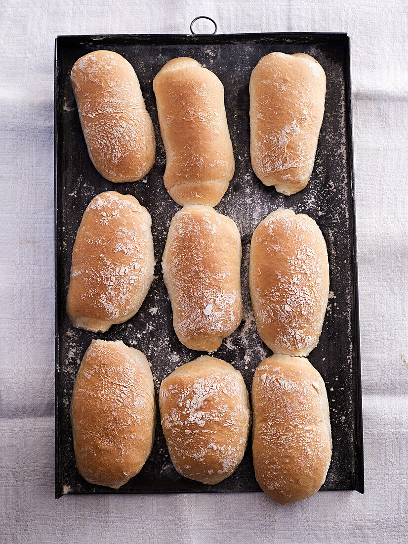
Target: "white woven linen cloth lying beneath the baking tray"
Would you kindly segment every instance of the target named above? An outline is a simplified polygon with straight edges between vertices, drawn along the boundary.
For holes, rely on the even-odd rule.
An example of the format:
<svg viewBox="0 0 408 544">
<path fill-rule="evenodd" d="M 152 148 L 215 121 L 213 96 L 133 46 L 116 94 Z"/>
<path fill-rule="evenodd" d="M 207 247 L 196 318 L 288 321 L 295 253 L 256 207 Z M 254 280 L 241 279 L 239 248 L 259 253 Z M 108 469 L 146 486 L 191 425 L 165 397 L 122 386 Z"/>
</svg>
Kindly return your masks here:
<svg viewBox="0 0 408 544">
<path fill-rule="evenodd" d="M 54 499 L 54 38 L 347 32 L 351 37 L 366 493 Z M 405 0 L 3 0 L 0 5 L 0 542 L 407 542 Z"/>
</svg>

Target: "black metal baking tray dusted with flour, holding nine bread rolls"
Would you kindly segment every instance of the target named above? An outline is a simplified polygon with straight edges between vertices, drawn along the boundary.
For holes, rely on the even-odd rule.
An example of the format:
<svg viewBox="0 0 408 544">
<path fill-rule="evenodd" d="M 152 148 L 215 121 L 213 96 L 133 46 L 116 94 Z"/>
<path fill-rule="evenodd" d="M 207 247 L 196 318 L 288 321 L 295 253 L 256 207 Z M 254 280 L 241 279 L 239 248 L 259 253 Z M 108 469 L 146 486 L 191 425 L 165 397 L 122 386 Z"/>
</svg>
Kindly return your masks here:
<svg viewBox="0 0 408 544">
<path fill-rule="evenodd" d="M 114 184 L 93 167 L 86 150 L 69 75 L 74 62 L 97 49 L 122 54 L 135 67 L 156 135 L 156 161 L 147 177 Z M 325 114 L 316 163 L 307 187 L 283 196 L 254 175 L 249 156 L 250 73 L 272 51 L 304 52 L 315 57 L 327 75 Z M 347 34 L 277 33 L 240 35 L 103 35 L 59 36 L 55 43 L 55 447 L 56 496 L 67 493 L 149 493 L 259 491 L 250 447 L 235 473 L 215 486 L 181 477 L 173 468 L 158 425 L 153 452 L 141 472 L 120 490 L 87 483 L 76 467 L 69 405 L 79 363 L 92 338 L 122 339 L 146 354 L 160 382 L 198 352 L 175 336 L 170 301 L 161 274 L 161 255 L 171 218 L 179 206 L 164 188 L 165 152 L 159 132 L 152 81 L 173 57 L 189 56 L 214 71 L 225 88 L 225 106 L 233 141 L 235 175 L 218 212 L 236 222 L 242 236 L 244 317 L 238 330 L 214 354 L 238 368 L 248 390 L 255 368 L 271 351 L 254 322 L 248 289 L 249 245 L 256 225 L 273 210 L 293 208 L 315 219 L 328 246 L 328 312 L 317 348 L 309 356 L 322 374 L 330 405 L 333 454 L 325 490 L 363 492 L 363 450 L 357 265 L 351 140 L 350 55 Z M 82 214 L 90 200 L 106 190 L 134 195 L 152 215 L 156 279 L 145 302 L 127 323 L 105 334 L 74 329 L 65 312 L 71 252 Z M 250 441 L 249 441 L 250 443 Z"/>
</svg>

